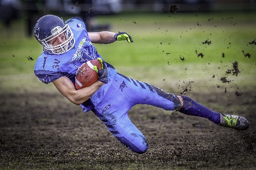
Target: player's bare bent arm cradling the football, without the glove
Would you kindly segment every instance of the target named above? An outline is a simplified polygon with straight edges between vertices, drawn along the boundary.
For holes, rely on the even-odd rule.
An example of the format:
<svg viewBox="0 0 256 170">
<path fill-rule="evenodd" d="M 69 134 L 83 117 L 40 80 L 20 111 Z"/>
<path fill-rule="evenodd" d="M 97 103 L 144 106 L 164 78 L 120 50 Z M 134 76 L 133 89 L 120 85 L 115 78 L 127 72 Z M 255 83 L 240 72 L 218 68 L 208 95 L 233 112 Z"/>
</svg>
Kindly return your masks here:
<svg viewBox="0 0 256 170">
<path fill-rule="evenodd" d="M 88 100 L 104 83 L 97 81 L 90 87 L 76 90 L 74 84 L 66 76 L 61 76 L 52 82 L 57 90 L 71 103 L 80 105 Z"/>
</svg>

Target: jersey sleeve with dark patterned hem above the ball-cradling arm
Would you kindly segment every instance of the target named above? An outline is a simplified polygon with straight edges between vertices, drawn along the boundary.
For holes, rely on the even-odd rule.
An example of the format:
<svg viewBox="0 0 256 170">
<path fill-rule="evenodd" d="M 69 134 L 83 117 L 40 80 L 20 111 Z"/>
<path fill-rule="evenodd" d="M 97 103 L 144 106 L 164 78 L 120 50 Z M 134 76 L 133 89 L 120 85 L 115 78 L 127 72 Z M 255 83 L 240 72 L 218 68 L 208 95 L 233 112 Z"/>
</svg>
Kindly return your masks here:
<svg viewBox="0 0 256 170">
<path fill-rule="evenodd" d="M 36 61 L 34 70 L 34 74 L 38 77 L 38 79 L 46 84 L 59 79 L 61 76 L 64 76 L 62 72 L 58 70 L 58 67 L 54 65 L 47 65 L 47 62 L 52 63 L 51 59 L 48 57 L 39 57 Z"/>
</svg>

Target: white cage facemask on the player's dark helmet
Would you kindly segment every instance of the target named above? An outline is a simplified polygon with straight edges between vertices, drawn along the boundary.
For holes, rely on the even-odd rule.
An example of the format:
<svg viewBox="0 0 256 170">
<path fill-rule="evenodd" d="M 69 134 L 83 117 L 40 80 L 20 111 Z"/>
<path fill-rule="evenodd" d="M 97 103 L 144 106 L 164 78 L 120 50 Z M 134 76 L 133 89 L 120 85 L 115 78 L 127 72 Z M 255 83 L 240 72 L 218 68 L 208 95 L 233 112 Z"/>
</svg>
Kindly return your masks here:
<svg viewBox="0 0 256 170">
<path fill-rule="evenodd" d="M 53 28 L 51 30 L 51 33 L 51 36 L 39 41 L 43 48 L 47 50 L 47 52 L 51 54 L 63 54 L 68 52 L 68 50 L 72 49 L 75 45 L 74 35 L 68 24 L 65 24 L 63 28 L 61 28 L 60 26 Z M 48 44 L 49 41 L 55 39 L 57 36 L 60 36 L 62 33 L 64 33 L 66 37 L 66 40 L 63 43 L 56 46 Z"/>
</svg>

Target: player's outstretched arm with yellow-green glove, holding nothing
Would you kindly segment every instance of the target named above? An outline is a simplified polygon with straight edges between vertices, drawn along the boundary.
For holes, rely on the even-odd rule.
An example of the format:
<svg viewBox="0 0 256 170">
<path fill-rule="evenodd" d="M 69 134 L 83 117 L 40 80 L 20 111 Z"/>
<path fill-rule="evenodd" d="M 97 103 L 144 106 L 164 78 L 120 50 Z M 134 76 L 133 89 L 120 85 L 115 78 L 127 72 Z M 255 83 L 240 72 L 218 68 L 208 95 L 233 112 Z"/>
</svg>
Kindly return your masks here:
<svg viewBox="0 0 256 170">
<path fill-rule="evenodd" d="M 128 42 L 133 42 L 131 36 L 126 32 L 88 32 L 89 39 L 92 43 L 96 44 L 110 44 L 115 41 L 127 40 Z"/>
</svg>

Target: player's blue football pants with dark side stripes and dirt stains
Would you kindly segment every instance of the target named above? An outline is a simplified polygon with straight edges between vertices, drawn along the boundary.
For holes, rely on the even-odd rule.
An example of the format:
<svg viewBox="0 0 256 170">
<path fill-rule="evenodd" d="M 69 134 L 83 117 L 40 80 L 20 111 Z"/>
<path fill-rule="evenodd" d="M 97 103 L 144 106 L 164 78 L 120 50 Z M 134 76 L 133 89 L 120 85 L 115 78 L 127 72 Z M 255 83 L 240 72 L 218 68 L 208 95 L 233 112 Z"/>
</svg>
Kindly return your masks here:
<svg viewBox="0 0 256 170">
<path fill-rule="evenodd" d="M 143 154 L 148 149 L 147 139 L 127 115 L 131 107 L 137 104 L 174 111 L 180 107 L 180 100 L 158 87 L 118 73 L 104 99 L 92 111 L 123 145 Z"/>
</svg>

